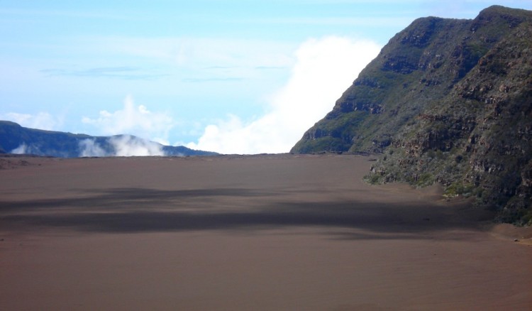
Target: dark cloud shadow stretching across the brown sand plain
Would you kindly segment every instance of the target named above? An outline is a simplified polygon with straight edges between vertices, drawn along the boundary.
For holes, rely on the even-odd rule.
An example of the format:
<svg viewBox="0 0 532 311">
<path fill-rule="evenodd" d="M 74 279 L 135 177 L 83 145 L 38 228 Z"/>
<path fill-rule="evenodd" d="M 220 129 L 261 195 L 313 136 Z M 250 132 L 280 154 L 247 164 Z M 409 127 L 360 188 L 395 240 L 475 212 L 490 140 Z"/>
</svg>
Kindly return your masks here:
<svg viewBox="0 0 532 311">
<path fill-rule="evenodd" d="M 152 190 L 116 188 L 74 198 L 0 201 L 0 222 L 77 231 L 135 233 L 150 231 L 242 230 L 321 227 L 340 239 L 410 236 L 449 229 L 478 229 L 485 212 L 467 205 L 433 202 L 387 204 L 338 200 L 294 202 L 283 192 L 243 188 Z M 355 234 L 345 229 L 365 231 Z"/>
</svg>

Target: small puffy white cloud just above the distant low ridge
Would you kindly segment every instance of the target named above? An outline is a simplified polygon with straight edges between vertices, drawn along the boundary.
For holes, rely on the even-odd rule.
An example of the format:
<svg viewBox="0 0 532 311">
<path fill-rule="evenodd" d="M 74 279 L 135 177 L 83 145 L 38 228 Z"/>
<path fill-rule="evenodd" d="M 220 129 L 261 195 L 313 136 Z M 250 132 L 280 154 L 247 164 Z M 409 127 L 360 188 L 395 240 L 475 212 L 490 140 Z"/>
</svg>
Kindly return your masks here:
<svg viewBox="0 0 532 311">
<path fill-rule="evenodd" d="M 163 112 L 152 112 L 143 105 L 135 105 L 131 96 L 124 100 L 123 108 L 109 112 L 102 110 L 98 118 L 83 117 L 84 124 L 98 129 L 101 135 L 131 134 L 168 144 L 168 135 L 175 122 Z"/>
</svg>

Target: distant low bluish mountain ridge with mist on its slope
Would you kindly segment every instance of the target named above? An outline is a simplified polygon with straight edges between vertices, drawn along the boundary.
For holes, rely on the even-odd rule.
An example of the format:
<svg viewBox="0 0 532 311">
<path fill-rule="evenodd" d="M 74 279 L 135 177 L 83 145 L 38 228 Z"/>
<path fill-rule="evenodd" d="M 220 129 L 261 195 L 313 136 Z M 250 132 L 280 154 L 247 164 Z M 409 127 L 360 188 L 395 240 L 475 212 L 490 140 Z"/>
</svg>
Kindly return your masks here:
<svg viewBox="0 0 532 311">
<path fill-rule="evenodd" d="M 89 136 L 28 129 L 11 121 L 0 121 L 0 153 L 27 153 L 60 158 L 114 155 L 216 155 L 184 146 L 163 146 L 129 135 Z"/>
</svg>

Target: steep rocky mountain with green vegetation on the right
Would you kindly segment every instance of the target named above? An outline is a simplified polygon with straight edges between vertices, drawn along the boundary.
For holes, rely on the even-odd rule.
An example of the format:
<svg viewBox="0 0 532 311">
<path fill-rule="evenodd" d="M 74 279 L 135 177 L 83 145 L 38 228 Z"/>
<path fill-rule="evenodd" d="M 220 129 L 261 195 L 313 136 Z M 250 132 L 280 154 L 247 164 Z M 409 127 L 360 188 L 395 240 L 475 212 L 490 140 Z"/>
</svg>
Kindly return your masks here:
<svg viewBox="0 0 532 311">
<path fill-rule="evenodd" d="M 532 11 L 419 18 L 292 153 L 382 153 L 368 182 L 440 182 L 502 222 L 532 224 Z"/>
</svg>

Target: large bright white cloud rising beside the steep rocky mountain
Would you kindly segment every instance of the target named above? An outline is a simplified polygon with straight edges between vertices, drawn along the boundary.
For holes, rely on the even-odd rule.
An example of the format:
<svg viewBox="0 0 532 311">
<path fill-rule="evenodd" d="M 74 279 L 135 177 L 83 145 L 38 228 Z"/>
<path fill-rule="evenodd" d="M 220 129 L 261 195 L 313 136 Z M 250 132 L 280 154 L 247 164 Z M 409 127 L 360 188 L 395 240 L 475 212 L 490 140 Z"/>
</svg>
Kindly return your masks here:
<svg viewBox="0 0 532 311">
<path fill-rule="evenodd" d="M 219 153 L 288 152 L 331 111 L 380 48 L 372 41 L 336 36 L 307 40 L 296 52 L 292 76 L 272 97 L 265 115 L 246 122 L 229 115 L 206 126 L 198 142 L 187 146 Z"/>
</svg>

